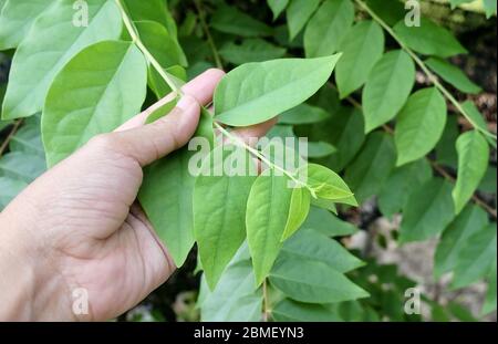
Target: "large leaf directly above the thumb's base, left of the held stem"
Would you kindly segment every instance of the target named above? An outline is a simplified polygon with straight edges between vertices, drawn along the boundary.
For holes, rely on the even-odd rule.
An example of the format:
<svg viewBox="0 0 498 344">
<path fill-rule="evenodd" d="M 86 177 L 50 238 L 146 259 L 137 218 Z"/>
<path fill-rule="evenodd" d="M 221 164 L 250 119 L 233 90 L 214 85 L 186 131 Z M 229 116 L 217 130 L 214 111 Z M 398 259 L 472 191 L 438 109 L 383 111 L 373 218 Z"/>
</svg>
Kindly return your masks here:
<svg viewBox="0 0 498 344">
<path fill-rule="evenodd" d="M 145 59 L 132 43 L 101 42 L 74 56 L 46 96 L 42 133 L 48 165 L 139 113 L 146 81 Z"/>
</svg>

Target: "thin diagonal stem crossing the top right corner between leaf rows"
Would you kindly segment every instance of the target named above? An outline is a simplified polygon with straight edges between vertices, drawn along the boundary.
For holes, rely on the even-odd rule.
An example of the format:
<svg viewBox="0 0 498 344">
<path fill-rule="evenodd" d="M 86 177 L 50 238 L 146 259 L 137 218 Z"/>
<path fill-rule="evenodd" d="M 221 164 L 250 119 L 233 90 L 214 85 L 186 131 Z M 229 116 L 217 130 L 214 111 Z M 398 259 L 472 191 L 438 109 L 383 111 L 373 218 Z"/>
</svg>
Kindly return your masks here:
<svg viewBox="0 0 498 344">
<path fill-rule="evenodd" d="M 465 108 L 461 106 L 461 104 L 453 96 L 453 94 L 446 90 L 445 86 L 439 82 L 439 80 L 434 75 L 433 72 L 427 67 L 427 65 L 424 63 L 424 61 L 418 58 L 418 55 L 411 50 L 408 46 L 406 46 L 405 43 L 397 37 L 397 34 L 394 32 L 394 30 L 387 25 L 386 22 L 384 22 L 365 2 L 362 0 L 355 0 L 356 3 L 363 8 L 370 17 L 372 17 L 373 20 L 375 20 L 396 42 L 397 44 L 415 61 L 415 63 L 421 67 L 421 70 L 425 73 L 425 75 L 428 77 L 428 80 L 436 86 L 437 90 L 439 90 L 444 96 L 458 110 L 458 112 L 476 128 L 478 132 L 483 133 L 485 136 L 491 137 L 496 140 L 496 134 L 491 134 L 488 131 L 479 127 L 477 123 L 473 121 L 473 118 L 467 114 Z"/>
</svg>

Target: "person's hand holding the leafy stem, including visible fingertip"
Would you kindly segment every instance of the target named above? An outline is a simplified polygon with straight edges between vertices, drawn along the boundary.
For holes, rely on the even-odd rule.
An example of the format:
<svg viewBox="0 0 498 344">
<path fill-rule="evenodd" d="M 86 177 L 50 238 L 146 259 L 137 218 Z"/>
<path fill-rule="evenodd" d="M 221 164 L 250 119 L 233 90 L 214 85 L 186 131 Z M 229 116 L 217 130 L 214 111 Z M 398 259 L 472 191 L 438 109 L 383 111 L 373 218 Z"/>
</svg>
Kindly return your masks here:
<svg viewBox="0 0 498 344">
<path fill-rule="evenodd" d="M 144 122 L 168 97 L 93 138 L 0 213 L 0 320 L 108 320 L 166 281 L 176 267 L 136 204 L 142 168 L 188 142 L 222 75 L 210 70 L 188 83 L 153 124 Z M 87 315 L 72 310 L 75 290 L 87 292 Z"/>
</svg>

